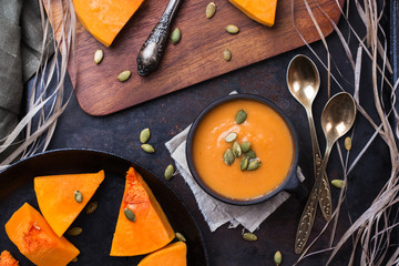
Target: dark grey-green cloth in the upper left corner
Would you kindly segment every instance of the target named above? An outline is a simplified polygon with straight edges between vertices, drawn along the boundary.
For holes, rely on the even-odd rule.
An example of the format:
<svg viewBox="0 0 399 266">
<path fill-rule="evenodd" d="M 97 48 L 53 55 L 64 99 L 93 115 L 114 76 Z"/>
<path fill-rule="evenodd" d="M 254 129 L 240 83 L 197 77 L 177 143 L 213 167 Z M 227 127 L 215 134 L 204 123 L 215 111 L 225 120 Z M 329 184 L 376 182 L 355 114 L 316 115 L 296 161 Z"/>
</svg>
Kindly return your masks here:
<svg viewBox="0 0 399 266">
<path fill-rule="evenodd" d="M 0 0 L 0 140 L 18 124 L 23 83 L 40 62 L 43 33 L 38 1 Z M 52 47 L 47 48 L 51 54 Z"/>
</svg>

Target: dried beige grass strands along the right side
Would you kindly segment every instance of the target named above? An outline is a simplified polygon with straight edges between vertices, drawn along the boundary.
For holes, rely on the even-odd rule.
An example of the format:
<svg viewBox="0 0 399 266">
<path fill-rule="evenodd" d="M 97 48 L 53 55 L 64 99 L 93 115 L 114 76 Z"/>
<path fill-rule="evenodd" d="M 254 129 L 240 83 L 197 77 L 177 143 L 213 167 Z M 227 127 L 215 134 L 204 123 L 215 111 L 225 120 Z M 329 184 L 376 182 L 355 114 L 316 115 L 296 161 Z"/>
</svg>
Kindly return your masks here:
<svg viewBox="0 0 399 266">
<path fill-rule="evenodd" d="M 370 146 L 370 144 L 379 136 L 383 140 L 387 147 L 389 149 L 390 162 L 391 162 L 391 173 L 389 178 L 387 180 L 385 186 L 381 188 L 378 196 L 374 200 L 372 204 L 366 209 L 365 213 L 360 215 L 359 218 L 351 222 L 351 226 L 347 229 L 347 232 L 341 236 L 336 236 L 336 227 L 338 223 L 338 217 L 340 215 L 341 206 L 346 203 L 346 193 L 347 185 L 341 190 L 337 207 L 332 214 L 332 219 L 328 222 L 325 227 L 321 229 L 319 235 L 309 244 L 309 246 L 305 249 L 304 254 L 298 258 L 296 264 L 304 262 L 307 257 L 320 254 L 320 253 L 330 253 L 327 265 L 332 265 L 332 259 L 337 255 L 337 253 L 342 248 L 342 245 L 349 239 L 352 239 L 351 246 L 351 256 L 348 258 L 348 265 L 399 265 L 399 247 L 391 247 L 391 234 L 395 229 L 398 229 L 399 225 L 399 151 L 397 143 L 399 142 L 399 129 L 396 127 L 393 130 L 392 125 L 397 125 L 398 121 L 398 112 L 395 110 L 396 103 L 396 90 L 399 85 L 399 81 L 395 81 L 392 85 L 389 81 L 389 74 L 392 73 L 392 68 L 387 59 L 387 38 L 383 32 L 383 29 L 380 24 L 383 11 L 385 11 L 385 1 L 377 3 L 377 0 L 355 0 L 355 8 L 357 13 L 359 14 L 364 27 L 366 29 L 366 35 L 360 37 L 359 33 L 351 25 L 348 13 L 349 13 L 349 4 L 352 2 L 350 0 L 347 1 L 347 11 L 341 10 L 339 2 L 336 1 L 336 4 L 339 7 L 341 11 L 341 17 L 345 20 L 345 23 L 349 28 L 349 34 L 355 37 L 355 41 L 358 43 L 358 50 L 356 53 L 356 58 L 354 58 L 349 43 L 345 39 L 342 32 L 338 28 L 335 22 L 329 19 L 328 13 L 326 13 L 320 6 L 318 6 L 317 0 L 304 0 L 305 6 L 307 7 L 308 13 L 313 19 L 313 22 L 318 30 L 320 38 L 323 40 L 323 44 L 327 52 L 327 65 L 325 62 L 320 60 L 318 54 L 311 49 L 311 47 L 305 41 L 301 33 L 297 29 L 295 24 L 295 10 L 294 10 L 294 1 L 293 1 L 293 23 L 295 29 L 297 29 L 298 34 L 304 40 L 305 44 L 310 49 L 310 51 L 315 54 L 315 57 L 320 61 L 323 66 L 327 70 L 328 76 L 338 85 L 341 91 L 352 91 L 352 95 L 355 98 L 357 109 L 361 115 L 366 117 L 366 120 L 370 123 L 370 125 L 375 129 L 375 133 L 369 136 L 368 142 L 361 149 L 361 151 L 356 154 L 355 160 L 349 164 L 348 157 L 349 153 L 344 153 L 338 145 L 338 153 L 341 161 L 342 166 L 342 176 L 345 180 L 345 184 L 348 184 L 347 180 L 350 178 L 348 176 L 357 163 L 362 158 L 366 151 Z M 318 9 L 327 17 L 330 21 L 335 32 L 337 33 L 340 43 L 345 50 L 348 62 L 351 65 L 354 72 L 354 84 L 341 84 L 338 82 L 338 79 L 331 73 L 330 69 L 330 60 L 334 61 L 334 54 L 329 52 L 328 42 L 325 40 L 323 33 L 319 31 L 319 25 L 317 20 L 315 19 L 311 9 L 309 8 L 308 1 L 316 2 Z M 354 41 L 354 40 L 351 40 Z M 365 57 L 371 61 L 371 85 L 368 88 L 364 88 L 360 91 L 360 73 L 361 73 L 361 63 L 365 60 Z M 334 64 L 336 66 L 336 64 Z M 337 73 L 341 75 L 341 73 L 337 70 Z M 340 76 L 344 80 L 345 76 Z M 329 82 L 328 82 L 328 85 Z M 385 106 L 383 103 L 383 90 L 390 90 L 390 104 L 389 106 Z M 371 110 L 364 108 L 359 100 L 360 93 L 370 93 L 374 99 L 372 109 L 377 111 L 378 121 L 374 121 L 369 115 Z M 328 88 L 329 94 L 329 88 Z M 374 111 L 372 110 L 372 111 Z M 390 121 L 391 119 L 391 121 Z M 355 124 L 356 126 L 356 124 Z M 354 132 L 352 132 L 354 136 Z M 366 178 L 371 178 L 371 176 L 366 176 Z M 350 216 L 349 216 L 350 218 Z M 351 221 L 351 219 L 350 219 Z M 309 249 L 318 242 L 319 237 L 326 234 L 326 229 L 331 226 L 330 233 L 330 242 L 329 246 L 316 250 L 309 252 Z M 360 256 L 355 256 L 356 252 L 360 252 Z M 390 252 L 389 252 L 390 250 Z M 390 257 L 388 256 L 390 254 Z M 305 263 L 306 264 L 306 263 Z"/>
</svg>

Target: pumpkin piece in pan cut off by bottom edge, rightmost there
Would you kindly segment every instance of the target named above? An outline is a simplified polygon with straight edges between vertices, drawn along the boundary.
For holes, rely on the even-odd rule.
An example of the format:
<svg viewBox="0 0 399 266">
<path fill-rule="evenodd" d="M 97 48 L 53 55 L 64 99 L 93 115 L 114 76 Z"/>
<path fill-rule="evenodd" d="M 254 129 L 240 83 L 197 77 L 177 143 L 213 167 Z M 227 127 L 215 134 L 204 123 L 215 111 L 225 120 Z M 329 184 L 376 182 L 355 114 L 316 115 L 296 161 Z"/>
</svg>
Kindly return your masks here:
<svg viewBox="0 0 399 266">
<path fill-rule="evenodd" d="M 145 256 L 137 266 L 186 266 L 187 247 L 184 242 L 175 242 Z"/>
</svg>

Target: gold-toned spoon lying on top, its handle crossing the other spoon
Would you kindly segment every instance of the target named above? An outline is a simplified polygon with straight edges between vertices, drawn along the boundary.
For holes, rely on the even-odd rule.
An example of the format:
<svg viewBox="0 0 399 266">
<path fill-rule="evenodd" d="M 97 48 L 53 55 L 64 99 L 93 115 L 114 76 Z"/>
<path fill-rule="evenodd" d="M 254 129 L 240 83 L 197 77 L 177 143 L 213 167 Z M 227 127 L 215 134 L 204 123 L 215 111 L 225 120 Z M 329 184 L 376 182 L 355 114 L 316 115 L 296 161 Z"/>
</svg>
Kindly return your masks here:
<svg viewBox="0 0 399 266">
<path fill-rule="evenodd" d="M 321 113 L 321 127 L 325 133 L 327 145 L 325 156 L 320 166 L 320 172 L 316 177 L 315 185 L 306 203 L 304 213 L 299 219 L 297 235 L 295 239 L 295 253 L 300 254 L 309 238 L 311 227 L 315 222 L 317 198 L 323 173 L 326 171 L 328 157 L 334 143 L 345 135 L 352 126 L 356 116 L 356 105 L 349 93 L 341 92 L 334 95 L 326 104 Z"/>
</svg>

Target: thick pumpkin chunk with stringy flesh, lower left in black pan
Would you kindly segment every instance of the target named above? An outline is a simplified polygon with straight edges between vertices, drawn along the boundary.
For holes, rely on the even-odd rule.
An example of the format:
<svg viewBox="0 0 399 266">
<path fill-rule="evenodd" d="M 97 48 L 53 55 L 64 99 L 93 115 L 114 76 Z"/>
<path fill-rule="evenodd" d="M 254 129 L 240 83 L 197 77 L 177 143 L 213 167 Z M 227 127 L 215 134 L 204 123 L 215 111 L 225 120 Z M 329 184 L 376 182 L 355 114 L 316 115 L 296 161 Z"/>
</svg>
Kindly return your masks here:
<svg viewBox="0 0 399 266">
<path fill-rule="evenodd" d="M 28 203 L 7 222 L 6 233 L 18 249 L 39 266 L 65 266 L 79 250 L 64 237 L 58 237 L 50 225 Z"/>
</svg>

